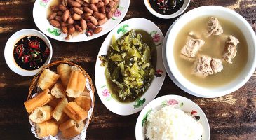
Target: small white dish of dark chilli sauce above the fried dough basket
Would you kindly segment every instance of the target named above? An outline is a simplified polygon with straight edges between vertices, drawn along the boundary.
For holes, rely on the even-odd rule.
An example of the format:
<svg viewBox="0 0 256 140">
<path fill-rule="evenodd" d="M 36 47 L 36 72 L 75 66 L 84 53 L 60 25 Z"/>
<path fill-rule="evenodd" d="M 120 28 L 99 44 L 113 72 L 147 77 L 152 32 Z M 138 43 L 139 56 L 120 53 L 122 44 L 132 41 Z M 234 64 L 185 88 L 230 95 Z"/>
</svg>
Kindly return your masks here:
<svg viewBox="0 0 256 140">
<path fill-rule="evenodd" d="M 50 63 L 53 50 L 40 31 L 22 29 L 7 41 L 4 57 L 9 68 L 22 76 L 33 76 Z"/>
</svg>

